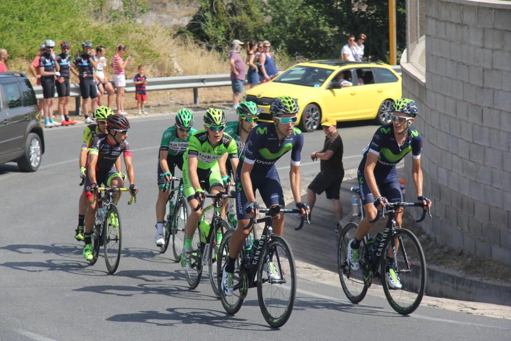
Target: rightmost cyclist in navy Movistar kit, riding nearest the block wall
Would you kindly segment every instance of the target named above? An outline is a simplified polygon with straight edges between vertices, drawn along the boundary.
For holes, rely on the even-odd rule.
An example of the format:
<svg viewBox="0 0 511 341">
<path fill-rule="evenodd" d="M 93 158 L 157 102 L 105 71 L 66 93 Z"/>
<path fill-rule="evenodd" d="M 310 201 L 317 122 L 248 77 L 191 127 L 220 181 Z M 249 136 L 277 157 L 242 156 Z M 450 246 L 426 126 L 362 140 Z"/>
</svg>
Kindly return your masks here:
<svg viewBox="0 0 511 341">
<path fill-rule="evenodd" d="M 403 201 L 396 165 L 406 154 L 412 152 L 412 177 L 417 200 L 431 206 L 431 201 L 423 195 L 423 175 L 421 169 L 422 135 L 411 123 L 417 116 L 417 105 L 413 100 L 401 98 L 392 105 L 392 123 L 381 126 L 374 134 L 373 140 L 364 149 L 363 158 L 358 167 L 360 196 L 366 217 L 358 225 L 355 238 L 348 243 L 347 261 L 354 270 L 358 270 L 358 249 L 360 242 L 375 223 L 377 210 L 385 202 Z M 426 209 L 426 208 L 425 208 Z M 403 221 L 403 212 L 396 214 L 399 227 Z M 396 243 L 398 240 L 396 239 Z M 397 247 L 397 244 L 396 244 Z M 401 282 L 394 266 L 392 250 L 389 248 L 385 278 L 390 288 L 400 289 Z"/>
</svg>

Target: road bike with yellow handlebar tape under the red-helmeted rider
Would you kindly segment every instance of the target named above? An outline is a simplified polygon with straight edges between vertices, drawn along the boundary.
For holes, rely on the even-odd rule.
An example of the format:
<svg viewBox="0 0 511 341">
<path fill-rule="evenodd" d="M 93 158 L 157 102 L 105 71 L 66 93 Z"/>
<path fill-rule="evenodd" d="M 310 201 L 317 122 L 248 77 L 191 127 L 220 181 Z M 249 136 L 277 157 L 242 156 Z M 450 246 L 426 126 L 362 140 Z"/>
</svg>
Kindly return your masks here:
<svg viewBox="0 0 511 341">
<path fill-rule="evenodd" d="M 94 265 L 98 260 L 99 249 L 103 246 L 106 268 L 110 274 L 114 274 L 119 267 L 121 260 L 122 229 L 121 217 L 117 206 L 113 203 L 114 193 L 128 192 L 127 188 L 99 187 L 94 200 L 98 201 L 94 229 L 92 229 L 92 259 L 90 264 Z M 104 192 L 104 194 L 101 194 Z M 128 204 L 136 203 L 136 194 L 131 195 Z M 92 201 L 94 202 L 94 201 Z"/>
</svg>

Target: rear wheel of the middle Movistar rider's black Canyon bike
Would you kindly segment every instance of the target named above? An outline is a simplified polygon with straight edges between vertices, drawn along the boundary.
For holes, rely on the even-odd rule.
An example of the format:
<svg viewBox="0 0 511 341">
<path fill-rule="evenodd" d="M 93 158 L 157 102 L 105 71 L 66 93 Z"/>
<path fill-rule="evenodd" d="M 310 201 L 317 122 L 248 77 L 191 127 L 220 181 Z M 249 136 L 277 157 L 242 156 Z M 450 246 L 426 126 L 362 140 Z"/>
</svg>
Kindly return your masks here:
<svg viewBox="0 0 511 341">
<path fill-rule="evenodd" d="M 234 231 L 235 230 L 227 230 L 227 232 L 223 235 L 222 242 L 220 243 L 220 249 L 218 250 L 217 260 L 217 274 L 219 274 L 217 278 L 217 287 L 219 288 L 218 293 L 220 296 L 220 302 L 222 302 L 222 306 L 224 307 L 225 311 L 233 315 L 240 310 L 248 290 L 246 272 L 240 270 L 240 264 L 243 263 L 243 252 L 240 252 L 240 255 L 236 259 L 235 263 L 233 278 L 234 293 L 231 296 L 226 296 L 221 289 L 222 272 L 229 256 L 229 244 L 231 237 L 233 237 Z"/>
</svg>

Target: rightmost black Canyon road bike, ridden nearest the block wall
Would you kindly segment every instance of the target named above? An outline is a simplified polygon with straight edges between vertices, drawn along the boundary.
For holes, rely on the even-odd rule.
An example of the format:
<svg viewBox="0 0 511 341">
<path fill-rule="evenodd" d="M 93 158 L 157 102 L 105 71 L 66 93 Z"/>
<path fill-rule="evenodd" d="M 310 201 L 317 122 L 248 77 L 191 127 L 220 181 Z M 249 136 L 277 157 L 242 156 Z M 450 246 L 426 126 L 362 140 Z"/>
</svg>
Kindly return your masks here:
<svg viewBox="0 0 511 341">
<path fill-rule="evenodd" d="M 359 187 L 352 187 L 351 190 L 360 194 Z M 358 270 L 352 269 L 347 261 L 347 246 L 355 237 L 358 225 L 350 222 L 342 229 L 337 243 L 337 266 L 342 290 L 351 302 L 362 301 L 373 279 L 378 278 L 388 303 L 400 314 L 410 314 L 421 304 L 426 289 L 426 258 L 419 239 L 411 231 L 400 229 L 396 224 L 395 214 L 402 212 L 405 207 L 425 208 L 422 202 L 388 202 L 377 217 L 370 220 L 374 223 L 385 215 L 388 218 L 382 234 L 378 234 L 376 239 L 367 234 L 361 241 Z M 428 208 L 415 221 L 423 221 L 426 213 L 431 217 Z M 361 215 L 363 218 L 363 210 Z M 390 288 L 385 279 L 389 250 L 393 255 L 394 272 L 401 281 L 400 289 Z"/>
</svg>

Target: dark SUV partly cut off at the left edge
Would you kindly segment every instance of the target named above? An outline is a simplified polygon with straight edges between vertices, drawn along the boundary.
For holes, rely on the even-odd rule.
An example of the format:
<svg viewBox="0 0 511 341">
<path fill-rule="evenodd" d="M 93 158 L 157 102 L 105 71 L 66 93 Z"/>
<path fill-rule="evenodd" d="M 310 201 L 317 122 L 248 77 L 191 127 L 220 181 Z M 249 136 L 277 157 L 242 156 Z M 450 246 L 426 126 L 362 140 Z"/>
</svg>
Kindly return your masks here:
<svg viewBox="0 0 511 341">
<path fill-rule="evenodd" d="M 25 172 L 39 168 L 44 137 L 36 118 L 38 111 L 27 76 L 21 72 L 0 73 L 0 164 L 16 161 Z"/>
</svg>

